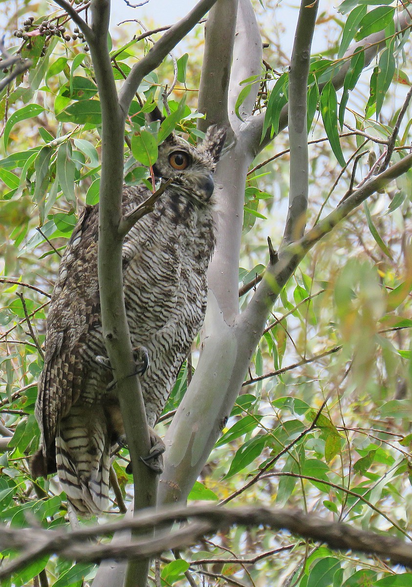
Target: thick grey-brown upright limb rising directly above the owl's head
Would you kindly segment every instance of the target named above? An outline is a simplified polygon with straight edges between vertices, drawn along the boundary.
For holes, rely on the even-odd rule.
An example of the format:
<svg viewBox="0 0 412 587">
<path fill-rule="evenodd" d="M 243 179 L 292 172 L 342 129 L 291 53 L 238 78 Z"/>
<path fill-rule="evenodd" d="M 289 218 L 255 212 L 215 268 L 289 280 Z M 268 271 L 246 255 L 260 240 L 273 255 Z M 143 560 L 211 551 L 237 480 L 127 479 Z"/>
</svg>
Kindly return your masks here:
<svg viewBox="0 0 412 587">
<path fill-rule="evenodd" d="M 227 104 L 237 6 L 238 0 L 219 0 L 211 9 L 205 28 L 198 97 L 198 111 L 206 115 L 198 120 L 198 127 L 203 131 L 210 124 L 217 124 L 230 133 Z M 231 139 L 229 134 L 227 140 Z"/>
</svg>

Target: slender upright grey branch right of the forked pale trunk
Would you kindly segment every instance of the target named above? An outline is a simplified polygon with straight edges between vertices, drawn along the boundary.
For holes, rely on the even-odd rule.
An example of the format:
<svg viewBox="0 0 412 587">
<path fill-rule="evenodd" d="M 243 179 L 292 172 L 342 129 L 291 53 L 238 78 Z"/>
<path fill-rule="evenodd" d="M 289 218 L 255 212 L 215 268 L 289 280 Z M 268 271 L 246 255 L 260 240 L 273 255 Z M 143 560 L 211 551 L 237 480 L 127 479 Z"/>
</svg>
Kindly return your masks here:
<svg viewBox="0 0 412 587">
<path fill-rule="evenodd" d="M 295 241 L 305 232 L 309 194 L 309 153 L 307 90 L 310 48 L 315 29 L 318 2 L 302 0 L 289 70 L 289 145 L 291 173 L 289 208 L 282 244 Z"/>
</svg>

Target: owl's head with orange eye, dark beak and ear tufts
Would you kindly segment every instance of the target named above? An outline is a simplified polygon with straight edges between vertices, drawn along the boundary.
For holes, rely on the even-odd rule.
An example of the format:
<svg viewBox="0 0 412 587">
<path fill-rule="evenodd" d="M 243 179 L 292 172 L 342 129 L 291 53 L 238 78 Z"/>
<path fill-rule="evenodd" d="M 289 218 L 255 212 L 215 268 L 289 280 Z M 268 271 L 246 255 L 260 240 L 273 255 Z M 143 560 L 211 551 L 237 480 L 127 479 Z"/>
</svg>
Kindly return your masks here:
<svg viewBox="0 0 412 587">
<path fill-rule="evenodd" d="M 198 204 L 207 203 L 214 190 L 212 173 L 225 144 L 226 131 L 210 126 L 198 147 L 170 134 L 159 146 L 153 166 L 157 177 L 173 179 L 171 189 L 193 198 Z"/>
</svg>

